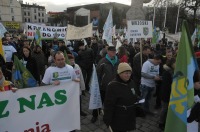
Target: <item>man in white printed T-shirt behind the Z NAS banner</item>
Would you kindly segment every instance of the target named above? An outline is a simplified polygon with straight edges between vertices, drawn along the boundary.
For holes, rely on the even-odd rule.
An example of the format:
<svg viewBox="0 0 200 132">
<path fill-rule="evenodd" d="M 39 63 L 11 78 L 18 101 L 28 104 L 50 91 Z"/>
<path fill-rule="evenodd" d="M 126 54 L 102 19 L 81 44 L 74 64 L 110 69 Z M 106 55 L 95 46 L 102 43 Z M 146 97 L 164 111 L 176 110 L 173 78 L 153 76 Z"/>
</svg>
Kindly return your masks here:
<svg viewBox="0 0 200 132">
<path fill-rule="evenodd" d="M 78 81 L 76 73 L 72 66 L 65 63 L 64 53 L 58 51 L 54 55 L 55 67 L 46 69 L 42 79 L 42 85 L 59 85 L 61 82 Z"/>
</svg>

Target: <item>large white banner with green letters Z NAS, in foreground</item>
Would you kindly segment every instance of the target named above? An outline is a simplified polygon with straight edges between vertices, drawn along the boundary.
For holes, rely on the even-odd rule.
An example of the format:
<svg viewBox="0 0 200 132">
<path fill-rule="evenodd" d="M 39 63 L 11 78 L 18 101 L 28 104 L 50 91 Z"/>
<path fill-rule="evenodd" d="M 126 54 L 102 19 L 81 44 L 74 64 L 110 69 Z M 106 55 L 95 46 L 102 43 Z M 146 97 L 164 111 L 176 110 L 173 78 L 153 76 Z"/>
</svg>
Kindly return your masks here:
<svg viewBox="0 0 200 132">
<path fill-rule="evenodd" d="M 0 132 L 80 130 L 79 83 L 0 93 Z"/>
</svg>

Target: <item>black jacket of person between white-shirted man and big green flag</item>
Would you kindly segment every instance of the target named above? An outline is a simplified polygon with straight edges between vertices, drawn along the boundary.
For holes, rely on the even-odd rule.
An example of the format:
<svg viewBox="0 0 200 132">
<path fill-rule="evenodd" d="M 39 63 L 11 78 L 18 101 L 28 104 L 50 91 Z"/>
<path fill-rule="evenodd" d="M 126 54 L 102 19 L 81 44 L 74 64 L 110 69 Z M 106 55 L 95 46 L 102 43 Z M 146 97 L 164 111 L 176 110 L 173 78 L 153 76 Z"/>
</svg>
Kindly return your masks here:
<svg viewBox="0 0 200 132">
<path fill-rule="evenodd" d="M 161 100 L 168 103 L 171 94 L 171 85 L 173 81 L 173 70 L 166 64 L 163 66 L 161 83 Z"/>
</svg>

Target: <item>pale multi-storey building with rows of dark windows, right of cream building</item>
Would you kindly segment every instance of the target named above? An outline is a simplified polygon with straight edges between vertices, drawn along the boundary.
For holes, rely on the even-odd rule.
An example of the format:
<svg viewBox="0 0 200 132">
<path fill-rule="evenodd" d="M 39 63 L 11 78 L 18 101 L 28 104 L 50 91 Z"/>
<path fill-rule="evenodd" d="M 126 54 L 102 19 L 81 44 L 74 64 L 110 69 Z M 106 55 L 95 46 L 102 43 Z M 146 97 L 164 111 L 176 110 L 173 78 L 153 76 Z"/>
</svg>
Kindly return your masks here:
<svg viewBox="0 0 200 132">
<path fill-rule="evenodd" d="M 46 23 L 46 9 L 45 6 L 39 6 L 36 3 L 30 5 L 29 3 L 23 3 L 23 0 L 19 1 L 22 7 L 22 21 L 29 23 Z"/>
</svg>

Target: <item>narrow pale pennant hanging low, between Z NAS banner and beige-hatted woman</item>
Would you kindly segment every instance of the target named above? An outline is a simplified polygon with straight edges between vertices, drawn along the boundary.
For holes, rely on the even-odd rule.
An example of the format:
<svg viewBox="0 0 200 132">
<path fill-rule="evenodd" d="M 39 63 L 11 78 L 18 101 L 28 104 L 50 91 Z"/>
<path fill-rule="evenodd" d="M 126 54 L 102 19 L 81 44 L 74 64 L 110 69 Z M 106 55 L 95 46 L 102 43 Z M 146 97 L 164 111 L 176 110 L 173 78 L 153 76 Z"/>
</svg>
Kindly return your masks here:
<svg viewBox="0 0 200 132">
<path fill-rule="evenodd" d="M 102 108 L 102 101 L 101 101 L 101 95 L 99 91 L 99 82 L 97 79 L 97 72 L 95 65 L 93 64 L 93 72 L 92 72 L 92 78 L 90 82 L 90 103 L 89 103 L 89 109 L 97 109 Z"/>
</svg>

